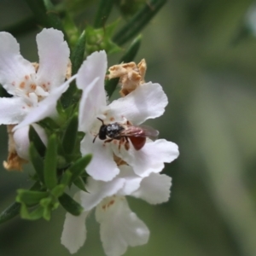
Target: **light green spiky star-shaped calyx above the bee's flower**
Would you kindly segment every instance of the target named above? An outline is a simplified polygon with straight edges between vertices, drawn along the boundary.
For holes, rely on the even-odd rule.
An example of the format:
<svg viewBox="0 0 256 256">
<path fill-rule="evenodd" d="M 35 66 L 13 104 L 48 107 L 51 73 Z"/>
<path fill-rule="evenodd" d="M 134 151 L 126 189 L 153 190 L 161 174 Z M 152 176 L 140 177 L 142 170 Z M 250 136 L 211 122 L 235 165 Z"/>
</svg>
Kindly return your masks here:
<svg viewBox="0 0 256 256">
<path fill-rule="evenodd" d="M 86 52 L 88 55 L 102 49 L 106 50 L 108 54 L 121 51 L 119 46 L 112 41 L 113 32 L 118 23 L 119 20 L 116 20 L 104 28 L 97 29 L 92 26 L 86 27 Z"/>
</svg>

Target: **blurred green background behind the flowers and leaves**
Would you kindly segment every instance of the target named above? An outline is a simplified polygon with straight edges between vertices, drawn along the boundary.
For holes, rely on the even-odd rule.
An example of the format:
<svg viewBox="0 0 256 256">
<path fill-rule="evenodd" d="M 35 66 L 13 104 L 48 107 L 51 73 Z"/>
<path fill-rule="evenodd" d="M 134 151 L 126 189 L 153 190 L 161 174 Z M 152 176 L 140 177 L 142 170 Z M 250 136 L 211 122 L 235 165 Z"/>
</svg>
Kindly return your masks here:
<svg viewBox="0 0 256 256">
<path fill-rule="evenodd" d="M 146 80 L 160 83 L 169 98 L 165 115 L 148 124 L 177 143 L 180 156 L 164 170 L 172 177 L 168 203 L 129 199 L 151 236 L 125 256 L 256 255 L 256 39 L 236 40 L 252 4 L 170 0 L 143 30 L 136 61 L 146 58 Z M 94 12 L 81 14 L 82 23 L 90 23 Z M 0 0 L 0 30 L 30 14 L 23 1 Z M 38 32 L 17 36 L 30 61 L 38 61 Z M 2 125 L 0 162 L 7 157 L 5 130 Z M 15 200 L 16 189 L 30 186 L 29 173 L 29 166 L 21 173 L 1 166 L 0 211 Z M 60 243 L 64 217 L 60 207 L 50 222 L 15 218 L 1 224 L 0 256 L 69 255 Z M 94 214 L 87 228 L 76 255 L 104 255 Z"/>
</svg>

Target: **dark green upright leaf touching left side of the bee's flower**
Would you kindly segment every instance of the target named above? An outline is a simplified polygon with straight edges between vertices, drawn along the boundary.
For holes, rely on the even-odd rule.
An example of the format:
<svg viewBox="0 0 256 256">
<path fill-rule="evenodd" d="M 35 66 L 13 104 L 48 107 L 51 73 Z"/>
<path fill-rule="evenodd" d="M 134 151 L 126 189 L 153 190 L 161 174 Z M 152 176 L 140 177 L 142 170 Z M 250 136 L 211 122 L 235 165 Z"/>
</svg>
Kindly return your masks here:
<svg viewBox="0 0 256 256">
<path fill-rule="evenodd" d="M 62 138 L 62 148 L 64 153 L 73 154 L 73 150 L 77 141 L 77 134 L 79 128 L 79 114 L 74 113 L 72 119 L 70 119 L 67 129 L 64 132 Z"/>
</svg>

